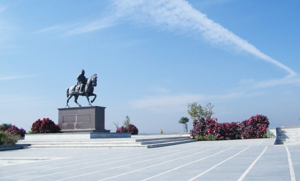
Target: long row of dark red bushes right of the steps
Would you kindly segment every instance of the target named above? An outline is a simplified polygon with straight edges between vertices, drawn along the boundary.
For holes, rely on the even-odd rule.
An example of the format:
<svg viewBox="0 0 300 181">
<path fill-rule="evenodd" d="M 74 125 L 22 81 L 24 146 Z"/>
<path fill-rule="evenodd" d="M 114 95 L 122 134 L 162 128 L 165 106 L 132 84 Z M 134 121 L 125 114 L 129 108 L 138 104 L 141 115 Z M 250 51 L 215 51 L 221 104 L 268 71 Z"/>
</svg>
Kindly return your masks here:
<svg viewBox="0 0 300 181">
<path fill-rule="evenodd" d="M 268 126 L 268 118 L 262 115 L 252 116 L 241 123 L 217 123 L 217 119 L 208 117 L 206 120 L 194 120 L 190 134 L 193 138 L 215 135 L 218 140 L 263 138 Z"/>
</svg>

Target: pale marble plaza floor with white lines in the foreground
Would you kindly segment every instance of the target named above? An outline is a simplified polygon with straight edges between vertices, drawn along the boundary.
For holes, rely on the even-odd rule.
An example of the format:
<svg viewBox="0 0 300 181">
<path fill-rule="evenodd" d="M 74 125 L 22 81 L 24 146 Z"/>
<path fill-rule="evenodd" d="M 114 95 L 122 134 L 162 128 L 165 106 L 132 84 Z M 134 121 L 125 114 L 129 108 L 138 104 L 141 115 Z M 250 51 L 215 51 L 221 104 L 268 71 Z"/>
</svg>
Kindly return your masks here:
<svg viewBox="0 0 300 181">
<path fill-rule="evenodd" d="M 7 150 L 0 152 L 0 180 L 300 180 L 300 145 L 274 141 Z"/>
</svg>

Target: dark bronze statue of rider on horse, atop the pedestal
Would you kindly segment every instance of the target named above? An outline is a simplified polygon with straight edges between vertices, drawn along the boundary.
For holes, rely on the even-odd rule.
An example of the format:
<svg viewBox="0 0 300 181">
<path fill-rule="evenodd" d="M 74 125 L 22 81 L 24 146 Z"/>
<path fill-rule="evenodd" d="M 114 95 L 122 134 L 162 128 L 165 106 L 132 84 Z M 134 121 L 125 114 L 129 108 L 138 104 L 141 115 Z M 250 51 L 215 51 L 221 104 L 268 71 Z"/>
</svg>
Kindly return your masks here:
<svg viewBox="0 0 300 181">
<path fill-rule="evenodd" d="M 97 86 L 97 74 L 94 74 L 90 76 L 89 78 L 85 78 L 84 76 L 84 70 L 82 69 L 80 74 L 77 76 L 77 85 L 73 85 L 69 88 L 67 88 L 67 108 L 70 106 L 68 105 L 69 99 L 71 99 L 72 96 L 74 96 L 75 100 L 74 102 L 81 107 L 81 105 L 77 102 L 78 96 L 85 96 L 88 100 L 88 105 L 92 106 L 91 103 L 93 103 L 97 97 L 96 94 L 94 94 L 94 87 Z M 89 100 L 89 96 L 94 96 L 94 99 Z"/>
</svg>

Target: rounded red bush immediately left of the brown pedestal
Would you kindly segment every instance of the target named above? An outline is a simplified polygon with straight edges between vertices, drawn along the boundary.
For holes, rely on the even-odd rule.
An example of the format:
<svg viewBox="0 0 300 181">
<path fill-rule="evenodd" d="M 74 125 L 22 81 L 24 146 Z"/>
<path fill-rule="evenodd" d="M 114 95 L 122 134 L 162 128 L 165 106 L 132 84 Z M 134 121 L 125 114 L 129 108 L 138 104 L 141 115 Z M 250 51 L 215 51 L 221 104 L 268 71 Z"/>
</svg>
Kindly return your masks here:
<svg viewBox="0 0 300 181">
<path fill-rule="evenodd" d="M 58 133 L 60 128 L 49 118 L 44 118 L 43 120 L 38 119 L 32 124 L 32 133 Z"/>
</svg>

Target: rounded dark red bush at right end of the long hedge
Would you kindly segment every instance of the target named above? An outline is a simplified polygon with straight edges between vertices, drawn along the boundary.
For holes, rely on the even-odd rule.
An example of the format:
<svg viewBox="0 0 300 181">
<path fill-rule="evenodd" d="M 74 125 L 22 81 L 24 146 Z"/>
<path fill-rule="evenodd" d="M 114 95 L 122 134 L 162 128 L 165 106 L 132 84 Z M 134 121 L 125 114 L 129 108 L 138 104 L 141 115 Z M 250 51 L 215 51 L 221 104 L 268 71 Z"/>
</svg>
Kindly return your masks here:
<svg viewBox="0 0 300 181">
<path fill-rule="evenodd" d="M 263 135 L 267 133 L 269 126 L 269 119 L 263 115 L 251 116 L 250 119 L 241 122 L 241 137 L 244 139 L 263 138 Z"/>
</svg>

